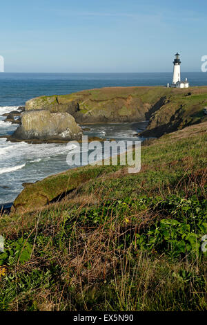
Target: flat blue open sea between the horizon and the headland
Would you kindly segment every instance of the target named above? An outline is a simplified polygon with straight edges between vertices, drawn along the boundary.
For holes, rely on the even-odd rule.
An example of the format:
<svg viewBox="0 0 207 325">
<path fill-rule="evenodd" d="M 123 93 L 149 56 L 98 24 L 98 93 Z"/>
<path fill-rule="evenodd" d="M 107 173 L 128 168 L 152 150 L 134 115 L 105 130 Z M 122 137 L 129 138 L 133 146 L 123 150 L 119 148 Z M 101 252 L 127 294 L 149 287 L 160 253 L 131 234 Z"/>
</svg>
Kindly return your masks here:
<svg viewBox="0 0 207 325">
<path fill-rule="evenodd" d="M 181 72 L 190 86 L 206 86 L 207 73 Z M 0 106 L 23 106 L 41 95 L 64 95 L 112 86 L 166 86 L 168 73 L 0 73 Z"/>
</svg>

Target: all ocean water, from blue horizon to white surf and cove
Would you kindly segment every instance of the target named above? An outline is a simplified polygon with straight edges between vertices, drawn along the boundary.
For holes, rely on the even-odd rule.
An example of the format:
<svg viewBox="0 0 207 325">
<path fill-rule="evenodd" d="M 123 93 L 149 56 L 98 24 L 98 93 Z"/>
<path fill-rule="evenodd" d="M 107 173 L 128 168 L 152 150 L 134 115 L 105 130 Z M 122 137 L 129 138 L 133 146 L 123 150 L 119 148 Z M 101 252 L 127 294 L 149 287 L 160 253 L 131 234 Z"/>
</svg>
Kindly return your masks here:
<svg viewBox="0 0 207 325">
<path fill-rule="evenodd" d="M 183 73 L 192 86 L 207 84 L 206 73 Z M 172 73 L 0 73 L 0 136 L 10 135 L 18 124 L 4 122 L 4 113 L 17 110 L 26 100 L 40 95 L 66 94 L 105 86 L 166 85 Z M 88 125 L 85 135 L 115 140 L 140 140 L 136 135 L 147 121 Z M 84 126 L 87 127 L 87 126 Z M 35 182 L 70 167 L 66 157 L 77 150 L 68 144 L 10 142 L 0 138 L 0 204 L 10 203 L 23 189 L 22 183 Z M 90 151 L 88 151 L 90 154 Z M 101 158 L 99 152 L 97 160 Z"/>
</svg>

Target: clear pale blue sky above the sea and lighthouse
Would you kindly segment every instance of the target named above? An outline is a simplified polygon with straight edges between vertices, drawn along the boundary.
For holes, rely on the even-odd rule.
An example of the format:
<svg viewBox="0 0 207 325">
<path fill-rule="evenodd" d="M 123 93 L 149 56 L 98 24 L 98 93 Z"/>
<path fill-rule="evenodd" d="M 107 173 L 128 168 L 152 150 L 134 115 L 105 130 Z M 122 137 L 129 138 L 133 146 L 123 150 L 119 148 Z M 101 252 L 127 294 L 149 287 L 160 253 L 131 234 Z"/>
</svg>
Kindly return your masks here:
<svg viewBox="0 0 207 325">
<path fill-rule="evenodd" d="M 6 72 L 200 71 L 207 55 L 204 0 L 1 1 Z"/>
</svg>

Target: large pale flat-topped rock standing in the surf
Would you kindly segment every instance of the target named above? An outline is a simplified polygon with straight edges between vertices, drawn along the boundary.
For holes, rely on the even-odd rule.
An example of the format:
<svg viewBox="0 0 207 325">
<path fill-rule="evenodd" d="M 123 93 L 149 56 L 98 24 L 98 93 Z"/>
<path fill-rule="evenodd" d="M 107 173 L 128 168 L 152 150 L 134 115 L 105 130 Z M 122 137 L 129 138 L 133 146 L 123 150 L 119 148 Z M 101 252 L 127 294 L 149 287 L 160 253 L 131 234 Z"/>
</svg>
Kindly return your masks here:
<svg viewBox="0 0 207 325">
<path fill-rule="evenodd" d="M 21 125 L 12 138 L 17 140 L 75 140 L 81 138 L 81 127 L 69 113 L 50 113 L 48 110 L 26 111 Z"/>
</svg>

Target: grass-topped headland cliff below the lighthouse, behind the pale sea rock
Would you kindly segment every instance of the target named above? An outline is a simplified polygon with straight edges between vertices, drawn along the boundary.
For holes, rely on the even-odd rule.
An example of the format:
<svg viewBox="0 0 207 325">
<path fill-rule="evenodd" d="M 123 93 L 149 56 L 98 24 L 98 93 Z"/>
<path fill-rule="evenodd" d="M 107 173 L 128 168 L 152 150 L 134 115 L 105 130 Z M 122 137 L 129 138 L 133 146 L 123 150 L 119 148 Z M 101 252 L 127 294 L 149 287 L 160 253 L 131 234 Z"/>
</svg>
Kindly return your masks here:
<svg viewBox="0 0 207 325">
<path fill-rule="evenodd" d="M 68 112 L 79 123 L 150 120 L 141 133 L 148 137 L 205 120 L 202 109 L 206 105 L 207 87 L 111 87 L 37 97 L 26 102 L 26 111 Z"/>
</svg>

